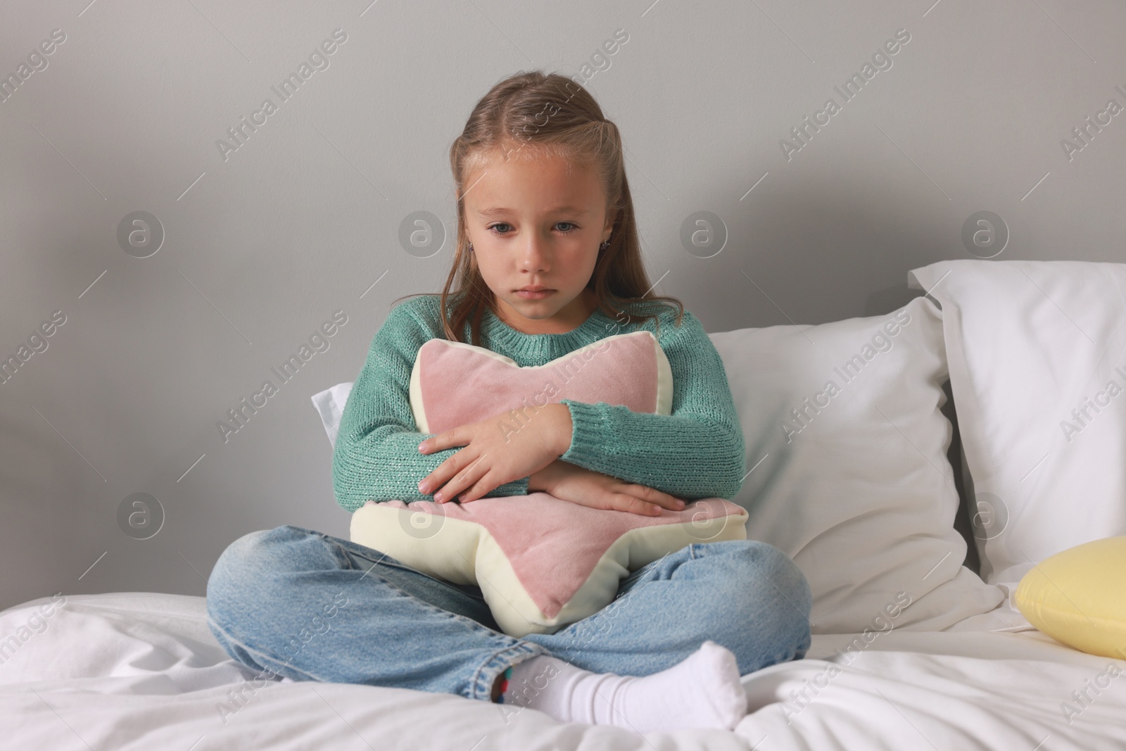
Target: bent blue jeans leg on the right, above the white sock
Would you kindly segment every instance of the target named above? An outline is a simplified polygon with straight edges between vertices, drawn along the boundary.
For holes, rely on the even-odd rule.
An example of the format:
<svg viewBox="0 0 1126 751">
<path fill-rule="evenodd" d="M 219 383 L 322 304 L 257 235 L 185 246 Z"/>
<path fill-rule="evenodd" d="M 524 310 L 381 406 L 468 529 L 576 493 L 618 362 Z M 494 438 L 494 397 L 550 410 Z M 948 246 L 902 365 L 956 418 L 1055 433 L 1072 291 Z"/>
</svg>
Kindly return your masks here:
<svg viewBox="0 0 1126 751">
<path fill-rule="evenodd" d="M 735 654 L 745 676 L 805 656 L 811 607 L 808 581 L 777 547 L 697 543 L 633 572 L 592 616 L 525 641 L 593 672 L 647 676 L 712 640 Z"/>
</svg>

